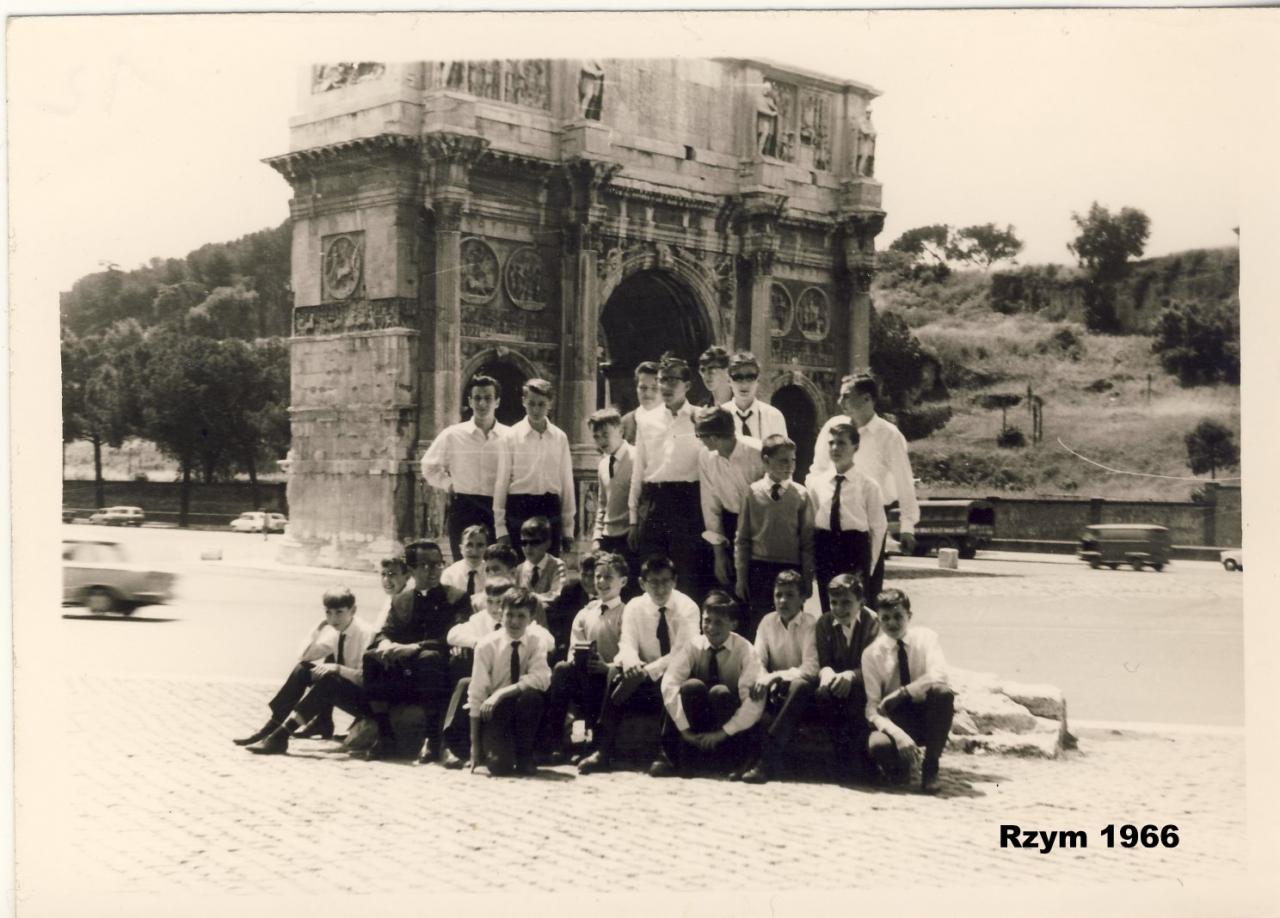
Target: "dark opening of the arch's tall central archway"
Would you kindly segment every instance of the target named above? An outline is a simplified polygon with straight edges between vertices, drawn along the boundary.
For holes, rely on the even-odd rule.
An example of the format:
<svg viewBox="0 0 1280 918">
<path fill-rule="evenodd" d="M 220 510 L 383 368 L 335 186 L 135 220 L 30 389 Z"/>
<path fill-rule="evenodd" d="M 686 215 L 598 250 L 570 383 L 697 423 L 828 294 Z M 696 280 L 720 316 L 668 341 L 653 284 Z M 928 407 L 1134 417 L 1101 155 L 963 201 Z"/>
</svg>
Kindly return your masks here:
<svg viewBox="0 0 1280 918">
<path fill-rule="evenodd" d="M 694 370 L 690 401 L 707 397 L 698 376 L 698 357 L 712 343 L 701 302 L 685 282 L 663 269 L 636 271 L 613 288 L 600 314 L 605 360 L 600 365 L 602 398 L 621 411 L 636 406 L 636 364 L 664 352 L 684 357 Z"/>
</svg>

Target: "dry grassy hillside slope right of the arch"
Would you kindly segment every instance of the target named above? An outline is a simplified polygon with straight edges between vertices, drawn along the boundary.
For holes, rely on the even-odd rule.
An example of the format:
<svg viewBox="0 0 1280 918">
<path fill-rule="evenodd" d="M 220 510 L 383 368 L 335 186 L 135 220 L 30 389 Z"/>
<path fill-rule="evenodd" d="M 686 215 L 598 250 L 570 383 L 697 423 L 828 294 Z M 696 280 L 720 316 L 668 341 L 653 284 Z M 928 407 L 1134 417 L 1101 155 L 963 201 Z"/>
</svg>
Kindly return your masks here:
<svg viewBox="0 0 1280 918">
<path fill-rule="evenodd" d="M 1238 261 L 1224 261 L 1238 271 Z M 1185 262 L 1187 254 L 1148 259 L 1143 270 L 1172 277 L 1170 265 Z M 1197 262 L 1203 270 L 1206 260 Z M 913 465 L 928 494 L 1185 499 L 1194 481 L 1142 475 L 1190 478 L 1183 438 L 1204 417 L 1239 435 L 1238 387 L 1183 388 L 1160 366 L 1149 337 L 1091 334 L 1065 318 L 1061 300 L 1038 311 L 1004 315 L 991 307 L 989 279 L 978 273 L 952 274 L 940 283 L 881 286 L 873 296 L 877 310 L 902 315 L 938 357 L 951 393 L 951 421 L 911 444 Z M 1029 440 L 1028 384 L 1043 399 L 1043 440 L 1000 448 L 1001 412 L 980 401 L 991 393 L 1023 396 L 1021 405 L 1009 408 L 1009 424 Z M 1068 448 L 1142 475 L 1105 471 Z"/>
</svg>

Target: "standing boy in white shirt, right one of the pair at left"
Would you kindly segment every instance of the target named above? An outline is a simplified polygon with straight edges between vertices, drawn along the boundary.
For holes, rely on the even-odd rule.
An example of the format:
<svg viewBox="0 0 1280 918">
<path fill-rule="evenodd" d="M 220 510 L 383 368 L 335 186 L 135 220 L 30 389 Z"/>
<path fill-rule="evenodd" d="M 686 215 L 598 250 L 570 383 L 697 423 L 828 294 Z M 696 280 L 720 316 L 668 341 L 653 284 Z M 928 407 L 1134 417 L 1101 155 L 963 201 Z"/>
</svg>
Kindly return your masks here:
<svg viewBox="0 0 1280 918">
<path fill-rule="evenodd" d="M 568 437 L 548 420 L 553 389 L 545 379 L 530 379 L 524 388 L 525 416 L 503 437 L 493 493 L 494 531 L 498 539 L 520 538 L 531 516 L 552 521 L 552 554 L 559 554 L 561 535 L 572 543 L 573 463 Z"/>
</svg>

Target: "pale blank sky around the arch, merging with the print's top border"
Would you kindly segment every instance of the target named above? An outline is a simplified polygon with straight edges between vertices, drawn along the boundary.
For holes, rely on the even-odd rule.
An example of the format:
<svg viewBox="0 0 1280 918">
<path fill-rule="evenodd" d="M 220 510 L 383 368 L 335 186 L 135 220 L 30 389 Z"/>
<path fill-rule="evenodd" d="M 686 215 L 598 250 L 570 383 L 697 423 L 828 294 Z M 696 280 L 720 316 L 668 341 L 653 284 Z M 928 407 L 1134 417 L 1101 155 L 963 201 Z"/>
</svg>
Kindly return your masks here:
<svg viewBox="0 0 1280 918">
<path fill-rule="evenodd" d="M 1151 218 L 1148 255 L 1235 242 L 1258 12 L 113 17 L 10 20 L 13 255 L 52 297 L 288 216 L 312 60 L 764 56 L 869 83 L 878 245 L 931 223 L 1012 224 L 1021 261 L 1071 262 L 1073 213 Z"/>
</svg>

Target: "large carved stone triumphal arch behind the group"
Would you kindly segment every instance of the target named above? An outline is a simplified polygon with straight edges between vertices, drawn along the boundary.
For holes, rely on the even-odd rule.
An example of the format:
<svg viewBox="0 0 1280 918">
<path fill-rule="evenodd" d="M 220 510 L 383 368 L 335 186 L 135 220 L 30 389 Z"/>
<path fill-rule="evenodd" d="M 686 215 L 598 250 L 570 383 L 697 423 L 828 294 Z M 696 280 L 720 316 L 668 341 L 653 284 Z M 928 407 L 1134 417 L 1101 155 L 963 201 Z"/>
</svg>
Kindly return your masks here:
<svg viewBox="0 0 1280 918">
<path fill-rule="evenodd" d="M 480 371 L 507 421 L 524 379 L 557 384 L 584 529 L 586 419 L 663 351 L 754 351 L 812 444 L 868 365 L 876 95 L 742 59 L 311 68 L 268 160 L 293 188 L 285 560 L 438 533 L 417 461 Z"/>
</svg>

